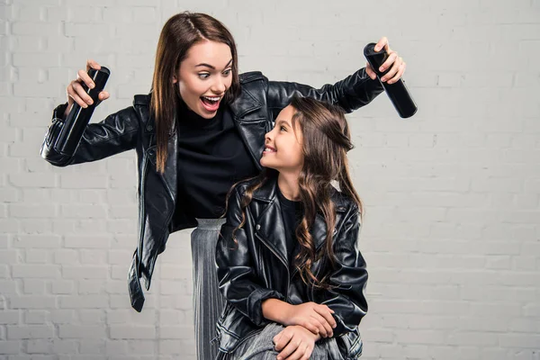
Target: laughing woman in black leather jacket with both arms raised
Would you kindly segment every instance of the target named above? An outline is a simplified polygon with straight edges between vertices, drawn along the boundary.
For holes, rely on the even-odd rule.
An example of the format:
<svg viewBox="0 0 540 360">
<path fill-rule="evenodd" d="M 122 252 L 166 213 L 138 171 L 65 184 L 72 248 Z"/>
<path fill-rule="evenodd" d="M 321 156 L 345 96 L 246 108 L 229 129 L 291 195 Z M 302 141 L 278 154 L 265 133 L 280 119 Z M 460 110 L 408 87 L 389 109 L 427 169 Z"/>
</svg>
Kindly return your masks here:
<svg viewBox="0 0 540 360">
<path fill-rule="evenodd" d="M 383 67 L 391 70 L 382 80 L 397 81 L 405 63 L 385 38 L 377 46 L 390 53 Z M 100 66 L 89 60 L 89 67 Z M 74 156 L 65 157 L 52 144 L 70 106 L 91 102 L 83 82 L 94 85 L 79 70 L 67 86 L 67 103 L 53 112 L 41 156 L 52 165 L 67 166 L 136 149 L 139 246 L 129 272 L 131 305 L 141 311 L 139 278 L 148 290 L 169 234 L 197 227 L 192 233 L 195 338 L 199 358 L 213 358 L 216 350 L 209 344 L 222 302 L 214 248 L 230 186 L 259 173 L 265 133 L 294 94 L 352 112 L 370 103 L 383 86 L 370 67 L 320 89 L 268 81 L 260 72 L 240 76 L 236 45 L 223 24 L 206 14 L 176 14 L 159 37 L 150 94 L 135 95 L 132 106 L 89 124 Z M 99 94 L 100 101 L 108 97 L 107 92 Z"/>
</svg>

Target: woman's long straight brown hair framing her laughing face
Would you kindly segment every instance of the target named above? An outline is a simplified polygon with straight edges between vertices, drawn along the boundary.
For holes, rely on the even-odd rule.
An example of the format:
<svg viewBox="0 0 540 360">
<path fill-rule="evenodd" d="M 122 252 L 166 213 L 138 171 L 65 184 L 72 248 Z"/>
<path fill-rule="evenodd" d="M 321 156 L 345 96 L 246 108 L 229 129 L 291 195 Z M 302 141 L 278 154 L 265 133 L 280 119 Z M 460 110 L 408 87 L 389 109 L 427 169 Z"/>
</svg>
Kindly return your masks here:
<svg viewBox="0 0 540 360">
<path fill-rule="evenodd" d="M 167 141 L 175 129 L 175 111 L 180 101 L 173 77 L 191 47 L 204 40 L 229 45 L 232 55 L 232 83 L 223 98 L 230 103 L 238 94 L 238 52 L 229 30 L 210 15 L 184 12 L 171 17 L 161 30 L 156 51 L 156 65 L 152 80 L 151 113 L 156 121 L 157 171 L 165 171 Z"/>
</svg>

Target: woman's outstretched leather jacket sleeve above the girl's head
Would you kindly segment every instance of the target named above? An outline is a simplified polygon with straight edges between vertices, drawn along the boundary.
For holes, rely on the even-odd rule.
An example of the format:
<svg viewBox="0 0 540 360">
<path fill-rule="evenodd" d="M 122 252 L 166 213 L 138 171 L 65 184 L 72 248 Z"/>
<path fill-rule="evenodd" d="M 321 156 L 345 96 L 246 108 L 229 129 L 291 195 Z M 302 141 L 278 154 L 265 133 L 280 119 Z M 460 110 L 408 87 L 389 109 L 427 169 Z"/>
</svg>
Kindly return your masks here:
<svg viewBox="0 0 540 360">
<path fill-rule="evenodd" d="M 339 105 L 345 112 L 353 112 L 371 103 L 375 96 L 383 92 L 383 85 L 378 79 L 372 80 L 363 67 L 336 84 L 327 84 L 320 89 L 309 85 L 269 81 L 267 90 L 268 107 L 275 118 L 278 112 L 291 103 L 294 95 L 333 103 Z"/>
</svg>

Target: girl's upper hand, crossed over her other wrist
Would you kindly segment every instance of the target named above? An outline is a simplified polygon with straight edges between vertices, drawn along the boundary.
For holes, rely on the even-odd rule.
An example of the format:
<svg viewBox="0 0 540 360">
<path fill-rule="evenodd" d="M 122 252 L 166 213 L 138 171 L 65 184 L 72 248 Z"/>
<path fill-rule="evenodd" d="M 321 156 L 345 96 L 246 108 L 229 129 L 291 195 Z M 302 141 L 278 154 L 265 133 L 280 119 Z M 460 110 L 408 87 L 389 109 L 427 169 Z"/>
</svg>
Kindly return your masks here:
<svg viewBox="0 0 540 360">
<path fill-rule="evenodd" d="M 284 322 L 286 326 L 300 325 L 302 328 L 310 330 L 314 335 L 321 338 L 331 338 L 336 328 L 336 320 L 332 311 L 327 305 L 320 305 L 316 302 L 304 302 L 300 305 L 290 305 Z"/>
</svg>

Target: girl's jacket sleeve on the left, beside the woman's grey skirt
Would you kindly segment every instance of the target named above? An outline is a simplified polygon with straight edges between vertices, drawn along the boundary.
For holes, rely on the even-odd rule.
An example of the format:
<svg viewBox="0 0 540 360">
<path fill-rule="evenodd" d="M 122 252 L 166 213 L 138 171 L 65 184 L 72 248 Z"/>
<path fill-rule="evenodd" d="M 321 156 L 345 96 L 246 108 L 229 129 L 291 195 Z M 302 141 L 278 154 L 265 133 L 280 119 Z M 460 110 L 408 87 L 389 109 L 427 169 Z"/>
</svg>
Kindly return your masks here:
<svg viewBox="0 0 540 360">
<path fill-rule="evenodd" d="M 270 321 L 263 317 L 262 302 L 270 298 L 284 301 L 284 296 L 257 281 L 246 230 L 238 229 L 234 234 L 236 243 L 233 239 L 232 231 L 242 220 L 239 187 L 230 194 L 227 222 L 221 227 L 216 247 L 218 281 L 220 292 L 229 303 L 257 326 L 264 326 Z"/>
</svg>

